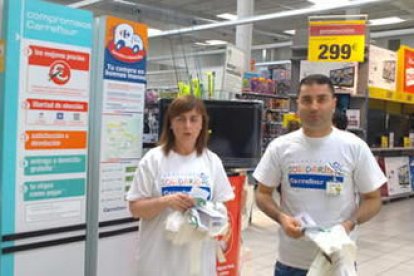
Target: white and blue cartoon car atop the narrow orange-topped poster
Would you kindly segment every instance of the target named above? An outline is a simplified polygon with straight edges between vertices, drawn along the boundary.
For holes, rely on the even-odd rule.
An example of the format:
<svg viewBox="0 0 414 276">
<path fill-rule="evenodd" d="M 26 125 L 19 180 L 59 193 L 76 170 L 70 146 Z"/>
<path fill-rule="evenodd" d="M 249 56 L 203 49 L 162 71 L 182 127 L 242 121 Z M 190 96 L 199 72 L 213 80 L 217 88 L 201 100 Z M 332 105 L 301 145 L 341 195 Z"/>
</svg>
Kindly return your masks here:
<svg viewBox="0 0 414 276">
<path fill-rule="evenodd" d="M 144 43 L 129 24 L 119 24 L 113 29 L 113 39 L 107 46 L 111 55 L 122 62 L 134 63 L 144 59 Z"/>
</svg>

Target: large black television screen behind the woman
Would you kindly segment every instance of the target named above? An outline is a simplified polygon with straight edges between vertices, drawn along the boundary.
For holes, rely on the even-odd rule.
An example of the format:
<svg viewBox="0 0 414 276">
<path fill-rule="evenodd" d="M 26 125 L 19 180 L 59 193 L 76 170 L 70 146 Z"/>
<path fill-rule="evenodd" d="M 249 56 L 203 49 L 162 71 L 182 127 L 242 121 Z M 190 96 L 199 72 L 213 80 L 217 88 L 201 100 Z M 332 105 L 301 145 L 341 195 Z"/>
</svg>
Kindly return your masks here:
<svg viewBox="0 0 414 276">
<path fill-rule="evenodd" d="M 159 100 L 161 133 L 171 99 Z M 208 148 L 226 168 L 254 168 L 261 156 L 262 103 L 257 101 L 205 100 L 210 117 Z"/>
</svg>

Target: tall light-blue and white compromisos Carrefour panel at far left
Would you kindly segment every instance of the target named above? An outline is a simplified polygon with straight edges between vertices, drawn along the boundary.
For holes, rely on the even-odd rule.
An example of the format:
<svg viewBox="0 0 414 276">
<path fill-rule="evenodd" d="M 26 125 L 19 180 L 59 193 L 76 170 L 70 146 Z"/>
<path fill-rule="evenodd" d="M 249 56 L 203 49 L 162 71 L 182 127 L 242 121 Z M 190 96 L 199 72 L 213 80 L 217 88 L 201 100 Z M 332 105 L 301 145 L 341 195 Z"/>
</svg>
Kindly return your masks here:
<svg viewBox="0 0 414 276">
<path fill-rule="evenodd" d="M 0 274 L 81 275 L 84 243 L 51 240 L 86 219 L 92 14 L 5 0 L 3 18 Z"/>
</svg>

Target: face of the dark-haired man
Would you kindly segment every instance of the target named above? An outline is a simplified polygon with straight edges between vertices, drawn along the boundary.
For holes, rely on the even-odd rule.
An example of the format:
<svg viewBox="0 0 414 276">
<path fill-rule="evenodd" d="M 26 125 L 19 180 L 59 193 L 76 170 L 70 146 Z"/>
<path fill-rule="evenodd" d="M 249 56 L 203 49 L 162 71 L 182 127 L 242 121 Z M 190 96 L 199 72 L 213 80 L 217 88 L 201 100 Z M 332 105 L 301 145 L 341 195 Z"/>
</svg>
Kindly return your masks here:
<svg viewBox="0 0 414 276">
<path fill-rule="evenodd" d="M 302 85 L 297 103 L 303 128 L 323 131 L 332 125 L 336 98 L 327 84 Z"/>
</svg>

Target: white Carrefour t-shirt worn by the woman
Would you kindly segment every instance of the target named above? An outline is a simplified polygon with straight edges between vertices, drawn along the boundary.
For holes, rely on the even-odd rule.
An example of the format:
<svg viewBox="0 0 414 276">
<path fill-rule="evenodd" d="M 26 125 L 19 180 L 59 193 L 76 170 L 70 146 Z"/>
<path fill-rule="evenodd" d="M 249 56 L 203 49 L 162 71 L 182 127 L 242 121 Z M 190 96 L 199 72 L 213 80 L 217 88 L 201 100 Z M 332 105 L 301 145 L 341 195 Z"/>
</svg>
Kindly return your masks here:
<svg viewBox="0 0 414 276">
<path fill-rule="evenodd" d="M 182 156 L 174 151 L 166 156 L 161 147 L 151 149 L 140 161 L 134 182 L 127 194 L 128 201 L 188 193 L 198 186 L 209 193 L 214 202 L 234 198 L 220 158 L 209 150 Z M 191 248 L 174 245 L 165 236 L 165 221 L 173 210 L 165 209 L 152 219 L 141 219 L 138 231 L 138 275 L 190 275 Z M 216 247 L 213 240 L 203 241 L 200 276 L 216 275 Z"/>
</svg>

